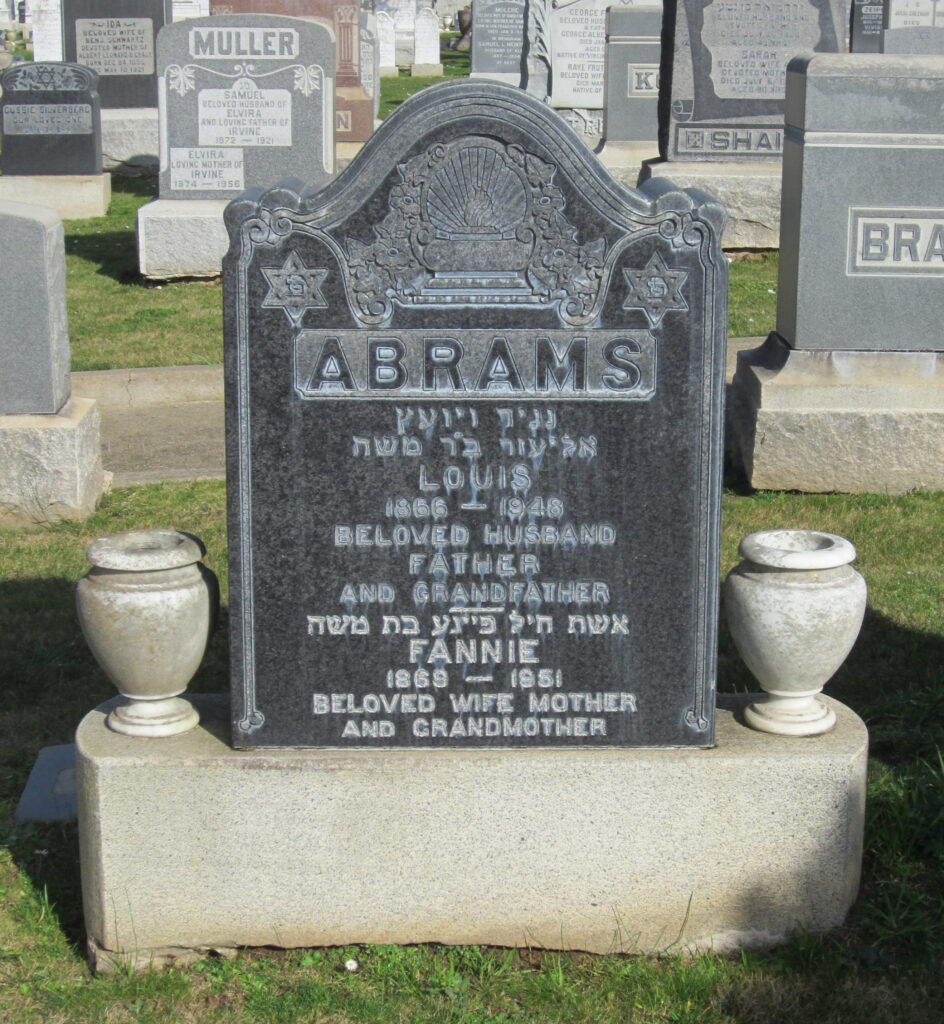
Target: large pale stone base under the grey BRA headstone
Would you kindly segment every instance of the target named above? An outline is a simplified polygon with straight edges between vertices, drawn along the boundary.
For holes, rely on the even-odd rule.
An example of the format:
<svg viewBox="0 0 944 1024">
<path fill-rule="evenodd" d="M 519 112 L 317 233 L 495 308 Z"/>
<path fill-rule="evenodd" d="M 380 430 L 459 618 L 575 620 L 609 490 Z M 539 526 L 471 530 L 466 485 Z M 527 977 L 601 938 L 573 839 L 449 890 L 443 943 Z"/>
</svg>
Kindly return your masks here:
<svg viewBox="0 0 944 1024">
<path fill-rule="evenodd" d="M 944 488 L 944 353 L 738 353 L 728 437 L 753 487 L 849 494 Z"/>
</svg>

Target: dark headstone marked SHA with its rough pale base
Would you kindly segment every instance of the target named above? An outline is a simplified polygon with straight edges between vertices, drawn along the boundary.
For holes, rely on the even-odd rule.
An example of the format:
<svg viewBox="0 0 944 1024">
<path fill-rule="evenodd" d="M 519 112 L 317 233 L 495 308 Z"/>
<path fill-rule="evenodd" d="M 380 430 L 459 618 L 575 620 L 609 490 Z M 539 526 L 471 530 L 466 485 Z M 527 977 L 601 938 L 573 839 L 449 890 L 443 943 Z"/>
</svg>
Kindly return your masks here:
<svg viewBox="0 0 944 1024">
<path fill-rule="evenodd" d="M 846 50 L 844 0 L 677 0 L 663 157 L 644 174 L 728 211 L 725 246 L 776 248 L 786 65 Z"/>
</svg>

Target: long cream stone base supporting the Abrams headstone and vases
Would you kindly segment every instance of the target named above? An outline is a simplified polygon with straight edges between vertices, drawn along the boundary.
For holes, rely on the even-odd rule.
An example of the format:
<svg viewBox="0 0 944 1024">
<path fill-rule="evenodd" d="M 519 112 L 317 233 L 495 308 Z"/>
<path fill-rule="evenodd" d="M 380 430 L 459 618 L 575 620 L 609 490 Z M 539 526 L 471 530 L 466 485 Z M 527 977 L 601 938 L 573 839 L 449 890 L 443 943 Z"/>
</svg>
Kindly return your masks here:
<svg viewBox="0 0 944 1024">
<path fill-rule="evenodd" d="M 118 698 L 116 698 L 118 699 Z M 166 739 L 76 734 L 96 969 L 237 946 L 764 947 L 859 885 L 868 735 L 742 724 L 714 750 L 233 751 L 223 696 Z M 756 699 L 756 696 L 754 697 Z"/>
</svg>

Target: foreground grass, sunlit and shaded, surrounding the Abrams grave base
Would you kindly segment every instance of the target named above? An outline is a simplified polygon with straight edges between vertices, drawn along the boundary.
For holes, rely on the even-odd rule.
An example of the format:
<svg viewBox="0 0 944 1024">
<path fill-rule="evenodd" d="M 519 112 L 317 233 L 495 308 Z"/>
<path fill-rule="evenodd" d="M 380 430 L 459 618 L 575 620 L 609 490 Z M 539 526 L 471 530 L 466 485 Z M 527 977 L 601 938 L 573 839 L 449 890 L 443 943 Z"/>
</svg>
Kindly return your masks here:
<svg viewBox="0 0 944 1024">
<path fill-rule="evenodd" d="M 174 525 L 204 539 L 225 595 L 224 503 L 222 482 L 166 483 L 113 493 L 84 524 L 0 530 L 0 1021 L 944 1019 L 944 494 L 724 499 L 724 571 L 747 532 L 815 527 L 853 540 L 869 585 L 862 635 L 827 687 L 865 719 L 871 752 L 861 895 L 838 932 L 692 959 L 350 947 L 247 950 L 186 970 L 90 976 L 75 826 L 12 822 L 39 749 L 68 742 L 114 692 L 82 641 L 74 585 L 93 538 Z M 226 689 L 225 625 L 224 609 L 195 690 Z M 724 629 L 719 674 L 723 689 L 755 688 Z M 344 968 L 350 957 L 355 973 Z"/>
</svg>

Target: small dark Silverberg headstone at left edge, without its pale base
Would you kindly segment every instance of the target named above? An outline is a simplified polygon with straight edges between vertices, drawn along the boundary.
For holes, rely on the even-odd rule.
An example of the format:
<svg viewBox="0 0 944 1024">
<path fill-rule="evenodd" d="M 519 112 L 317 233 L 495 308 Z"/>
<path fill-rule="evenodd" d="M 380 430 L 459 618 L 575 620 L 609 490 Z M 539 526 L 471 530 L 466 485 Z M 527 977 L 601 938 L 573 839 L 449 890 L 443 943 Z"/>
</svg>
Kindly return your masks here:
<svg viewBox="0 0 944 1024">
<path fill-rule="evenodd" d="M 22 63 L 0 75 L 0 173 L 100 174 L 97 76 L 70 63 Z"/>
</svg>

